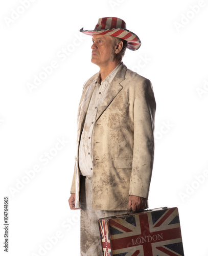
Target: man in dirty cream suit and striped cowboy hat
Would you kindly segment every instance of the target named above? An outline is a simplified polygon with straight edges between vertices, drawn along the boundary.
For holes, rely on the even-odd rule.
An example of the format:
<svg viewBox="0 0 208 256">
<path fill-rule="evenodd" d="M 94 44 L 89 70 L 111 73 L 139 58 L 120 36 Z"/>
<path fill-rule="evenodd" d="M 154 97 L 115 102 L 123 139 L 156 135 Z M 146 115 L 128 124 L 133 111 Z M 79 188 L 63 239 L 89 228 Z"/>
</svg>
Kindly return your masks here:
<svg viewBox="0 0 208 256">
<path fill-rule="evenodd" d="M 97 220 L 147 207 L 154 158 L 156 103 L 151 82 L 127 69 L 126 48 L 141 41 L 122 19 L 100 18 L 91 62 L 100 72 L 87 80 L 78 110 L 75 172 L 68 200 L 81 208 L 81 255 L 102 255 Z"/>
</svg>

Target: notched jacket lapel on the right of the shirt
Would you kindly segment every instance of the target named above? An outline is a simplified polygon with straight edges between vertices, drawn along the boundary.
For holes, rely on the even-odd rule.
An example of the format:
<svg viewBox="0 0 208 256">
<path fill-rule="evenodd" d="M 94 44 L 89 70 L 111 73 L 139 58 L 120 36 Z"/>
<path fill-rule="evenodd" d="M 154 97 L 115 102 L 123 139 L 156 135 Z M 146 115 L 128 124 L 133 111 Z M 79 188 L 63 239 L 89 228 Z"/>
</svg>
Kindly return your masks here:
<svg viewBox="0 0 208 256">
<path fill-rule="evenodd" d="M 118 95 L 118 93 L 123 89 L 120 82 L 125 79 L 127 67 L 122 63 L 121 68 L 113 78 L 110 87 L 106 93 L 106 97 L 102 102 L 102 105 L 99 106 L 96 121 L 102 115 L 102 113 L 108 108 L 109 104 L 113 101 L 113 99 Z"/>
</svg>

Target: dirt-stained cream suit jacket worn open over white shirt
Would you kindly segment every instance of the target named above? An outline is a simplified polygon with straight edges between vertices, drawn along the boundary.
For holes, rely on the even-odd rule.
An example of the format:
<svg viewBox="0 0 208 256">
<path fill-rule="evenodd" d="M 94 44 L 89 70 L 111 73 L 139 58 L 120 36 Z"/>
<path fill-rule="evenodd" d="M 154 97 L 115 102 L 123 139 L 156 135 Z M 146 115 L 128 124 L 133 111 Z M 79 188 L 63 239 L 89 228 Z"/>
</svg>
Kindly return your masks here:
<svg viewBox="0 0 208 256">
<path fill-rule="evenodd" d="M 77 156 L 71 193 L 79 208 L 79 140 L 95 74 L 83 87 L 78 109 Z M 150 80 L 121 68 L 98 109 L 93 134 L 93 208 L 128 210 L 129 195 L 148 198 L 154 159 L 156 103 Z"/>
</svg>

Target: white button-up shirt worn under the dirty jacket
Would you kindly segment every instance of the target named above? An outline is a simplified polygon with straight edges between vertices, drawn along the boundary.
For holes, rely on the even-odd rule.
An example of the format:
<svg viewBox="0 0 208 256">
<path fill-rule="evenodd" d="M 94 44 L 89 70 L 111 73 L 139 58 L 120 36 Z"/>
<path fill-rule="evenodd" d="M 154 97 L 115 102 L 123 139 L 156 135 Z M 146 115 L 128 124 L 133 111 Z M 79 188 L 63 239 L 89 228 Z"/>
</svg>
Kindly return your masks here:
<svg viewBox="0 0 208 256">
<path fill-rule="evenodd" d="M 91 96 L 86 113 L 84 128 L 82 131 L 79 145 L 79 169 L 82 176 L 93 176 L 93 156 L 92 156 L 92 139 L 95 127 L 95 121 L 99 106 L 105 99 L 108 88 L 121 67 L 121 63 L 100 83 L 100 73 L 90 86 L 94 86 L 93 95 Z"/>
</svg>

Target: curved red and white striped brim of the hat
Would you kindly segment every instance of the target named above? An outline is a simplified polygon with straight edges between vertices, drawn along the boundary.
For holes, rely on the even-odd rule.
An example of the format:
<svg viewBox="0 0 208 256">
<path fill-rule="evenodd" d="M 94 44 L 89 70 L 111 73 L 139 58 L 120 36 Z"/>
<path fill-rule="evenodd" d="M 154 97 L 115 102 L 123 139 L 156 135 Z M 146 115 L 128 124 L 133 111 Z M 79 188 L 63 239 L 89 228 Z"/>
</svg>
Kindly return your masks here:
<svg viewBox="0 0 208 256">
<path fill-rule="evenodd" d="M 140 38 L 133 32 L 123 29 L 123 28 L 116 28 L 116 29 L 103 29 L 103 30 L 83 30 L 80 29 L 80 32 L 86 35 L 109 35 L 114 37 L 119 37 L 127 41 L 127 48 L 132 51 L 138 50 L 141 46 Z"/>
</svg>

